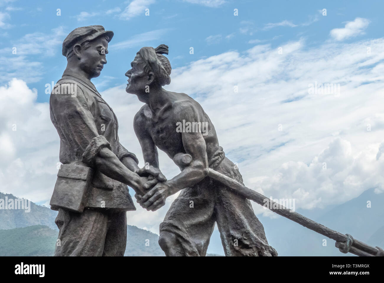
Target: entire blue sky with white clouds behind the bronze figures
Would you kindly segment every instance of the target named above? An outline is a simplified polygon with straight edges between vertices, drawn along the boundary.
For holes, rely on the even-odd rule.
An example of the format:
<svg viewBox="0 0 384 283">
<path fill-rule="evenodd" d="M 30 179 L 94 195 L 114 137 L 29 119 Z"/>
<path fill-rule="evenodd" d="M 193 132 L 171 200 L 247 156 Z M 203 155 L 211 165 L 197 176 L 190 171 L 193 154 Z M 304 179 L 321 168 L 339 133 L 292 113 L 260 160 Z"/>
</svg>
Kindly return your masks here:
<svg viewBox="0 0 384 283">
<path fill-rule="evenodd" d="M 61 78 L 66 66 L 61 45 L 68 33 L 103 25 L 115 35 L 108 63 L 93 83 L 119 119 L 121 143 L 140 165 L 132 121 L 142 103 L 125 92 L 124 73 L 139 48 L 166 44 L 172 65 L 166 89 L 202 105 L 248 187 L 267 197 L 294 198 L 303 214 L 343 204 L 367 189 L 380 194 L 383 6 L 382 1 L 0 0 L 0 191 L 49 204 L 59 139 L 45 84 Z M 326 84 L 335 90 L 311 91 Z M 169 179 L 179 173 L 164 152 L 159 159 Z M 158 233 L 176 196 L 156 212 L 137 207 L 128 223 Z M 253 209 L 274 217 L 259 205 Z"/>
</svg>

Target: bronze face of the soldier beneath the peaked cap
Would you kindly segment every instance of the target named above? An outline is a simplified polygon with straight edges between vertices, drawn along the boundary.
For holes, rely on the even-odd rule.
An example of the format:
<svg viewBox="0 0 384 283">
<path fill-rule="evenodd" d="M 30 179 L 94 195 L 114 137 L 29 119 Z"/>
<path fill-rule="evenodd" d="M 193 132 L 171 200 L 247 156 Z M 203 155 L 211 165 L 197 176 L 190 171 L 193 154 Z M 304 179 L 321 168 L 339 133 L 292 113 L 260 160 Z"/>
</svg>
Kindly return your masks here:
<svg viewBox="0 0 384 283">
<path fill-rule="evenodd" d="M 81 48 L 80 68 L 89 79 L 100 76 L 104 64 L 107 63 L 106 54 L 108 54 L 108 41 L 105 37 L 96 38 Z"/>
</svg>

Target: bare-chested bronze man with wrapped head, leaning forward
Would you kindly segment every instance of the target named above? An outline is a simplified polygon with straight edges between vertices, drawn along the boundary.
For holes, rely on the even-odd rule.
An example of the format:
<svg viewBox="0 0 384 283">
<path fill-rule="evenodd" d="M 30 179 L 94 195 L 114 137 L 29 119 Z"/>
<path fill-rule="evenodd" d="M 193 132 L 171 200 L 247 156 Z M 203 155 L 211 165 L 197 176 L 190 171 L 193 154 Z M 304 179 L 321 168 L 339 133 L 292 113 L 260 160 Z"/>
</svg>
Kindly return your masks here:
<svg viewBox="0 0 384 283">
<path fill-rule="evenodd" d="M 160 224 L 159 245 L 167 256 L 205 256 L 216 222 L 226 256 L 277 256 L 250 201 L 208 176 L 212 168 L 243 182 L 200 104 L 185 93 L 162 88 L 170 83 L 171 73 L 169 60 L 162 54 L 168 54 L 168 46 L 141 48 L 126 73 L 127 93 L 145 103 L 134 118 L 134 130 L 147 168 L 159 170 L 158 147 L 181 170 L 145 195 L 135 195 L 142 207 L 154 211 L 181 190 Z M 180 124 L 187 123 L 207 126 L 204 132 L 203 127 L 180 130 Z M 192 160 L 186 162 L 183 156 Z"/>
</svg>

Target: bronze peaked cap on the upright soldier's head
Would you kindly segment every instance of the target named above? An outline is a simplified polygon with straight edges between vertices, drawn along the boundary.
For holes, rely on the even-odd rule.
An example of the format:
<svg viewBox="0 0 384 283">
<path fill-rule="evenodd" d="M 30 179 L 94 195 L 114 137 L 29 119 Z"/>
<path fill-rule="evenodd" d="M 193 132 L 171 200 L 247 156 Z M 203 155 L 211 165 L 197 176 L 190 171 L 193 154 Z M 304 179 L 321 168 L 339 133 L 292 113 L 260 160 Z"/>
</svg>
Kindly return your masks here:
<svg viewBox="0 0 384 283">
<path fill-rule="evenodd" d="M 104 30 L 104 26 L 99 25 L 75 28 L 63 41 L 63 56 L 66 57 L 71 47 L 76 43 L 81 44 L 85 41 L 94 40 L 102 35 L 107 35 L 109 42 L 113 38 L 113 31 Z"/>
</svg>

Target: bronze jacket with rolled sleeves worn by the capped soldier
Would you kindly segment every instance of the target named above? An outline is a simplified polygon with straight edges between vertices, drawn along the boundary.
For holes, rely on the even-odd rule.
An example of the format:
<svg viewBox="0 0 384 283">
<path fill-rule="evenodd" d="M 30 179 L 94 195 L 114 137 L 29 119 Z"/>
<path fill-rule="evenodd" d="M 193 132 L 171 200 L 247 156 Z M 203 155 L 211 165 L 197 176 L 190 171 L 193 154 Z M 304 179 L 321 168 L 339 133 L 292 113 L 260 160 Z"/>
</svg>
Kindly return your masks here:
<svg viewBox="0 0 384 283">
<path fill-rule="evenodd" d="M 60 136 L 60 162 L 94 169 L 84 207 L 136 210 L 127 185 L 102 174 L 94 165 L 103 147 L 120 160 L 129 156 L 138 161 L 120 144 L 118 120 L 91 81 L 66 71 L 52 90 L 50 116 Z"/>
</svg>

